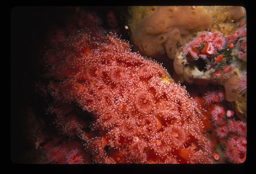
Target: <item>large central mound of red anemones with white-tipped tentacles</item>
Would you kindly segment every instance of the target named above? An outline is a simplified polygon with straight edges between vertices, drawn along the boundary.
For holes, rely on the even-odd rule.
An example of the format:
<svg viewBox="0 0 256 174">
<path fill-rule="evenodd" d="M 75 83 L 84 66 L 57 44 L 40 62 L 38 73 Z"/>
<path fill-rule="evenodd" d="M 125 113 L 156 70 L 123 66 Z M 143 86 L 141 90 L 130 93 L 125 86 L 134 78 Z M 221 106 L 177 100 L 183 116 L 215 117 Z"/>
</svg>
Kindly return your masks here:
<svg viewBox="0 0 256 174">
<path fill-rule="evenodd" d="M 166 70 L 128 43 L 92 35 L 80 31 L 45 55 L 50 111 L 62 133 L 78 136 L 96 163 L 211 163 L 204 116 L 186 90 L 163 82 Z M 68 114 L 72 102 L 94 114 L 94 135 Z"/>
</svg>

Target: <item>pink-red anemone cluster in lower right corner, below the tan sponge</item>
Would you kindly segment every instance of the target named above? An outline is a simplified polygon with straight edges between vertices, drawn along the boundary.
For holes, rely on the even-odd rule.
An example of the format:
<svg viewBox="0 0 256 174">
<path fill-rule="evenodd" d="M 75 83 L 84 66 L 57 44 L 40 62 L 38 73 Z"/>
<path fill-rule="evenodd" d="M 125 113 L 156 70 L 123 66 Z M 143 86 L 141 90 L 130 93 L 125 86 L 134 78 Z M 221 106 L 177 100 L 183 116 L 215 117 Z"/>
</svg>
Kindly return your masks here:
<svg viewBox="0 0 256 174">
<path fill-rule="evenodd" d="M 207 111 L 205 114 L 208 116 L 213 131 L 212 142 L 216 141 L 215 145 L 217 143 L 221 145 L 226 160 L 232 163 L 242 163 L 246 160 L 247 125 L 246 122 L 237 118 L 232 107 L 232 110 L 225 108 L 230 106 L 225 104 L 224 100 L 219 100 L 218 94 L 221 91 L 221 89 L 207 91 L 198 101 L 201 101 L 201 107 Z M 213 154 L 216 155 L 216 153 Z"/>
</svg>

